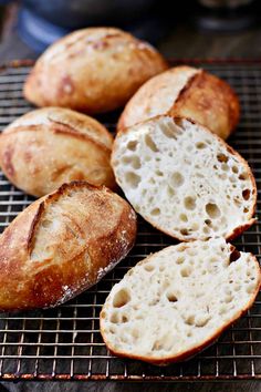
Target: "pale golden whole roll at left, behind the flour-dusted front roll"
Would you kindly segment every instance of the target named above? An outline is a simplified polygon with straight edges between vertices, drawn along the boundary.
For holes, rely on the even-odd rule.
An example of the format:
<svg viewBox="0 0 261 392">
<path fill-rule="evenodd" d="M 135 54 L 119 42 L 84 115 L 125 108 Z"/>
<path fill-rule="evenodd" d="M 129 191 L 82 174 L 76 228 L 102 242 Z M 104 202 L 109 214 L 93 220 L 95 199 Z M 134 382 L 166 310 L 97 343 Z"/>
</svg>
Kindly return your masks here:
<svg viewBox="0 0 261 392">
<path fill-rule="evenodd" d="M 96 120 L 62 107 L 32 111 L 0 135 L 0 166 L 17 187 L 43 196 L 70 180 L 115 187 L 113 136 Z"/>
</svg>

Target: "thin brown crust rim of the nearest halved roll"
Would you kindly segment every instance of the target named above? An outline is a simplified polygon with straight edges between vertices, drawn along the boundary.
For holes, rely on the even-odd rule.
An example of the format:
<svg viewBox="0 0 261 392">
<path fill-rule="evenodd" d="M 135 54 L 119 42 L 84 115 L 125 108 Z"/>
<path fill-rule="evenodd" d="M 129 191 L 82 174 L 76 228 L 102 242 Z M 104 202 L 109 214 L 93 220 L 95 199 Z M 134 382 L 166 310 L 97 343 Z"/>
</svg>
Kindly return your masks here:
<svg viewBox="0 0 261 392">
<path fill-rule="evenodd" d="M 253 262 L 255 262 L 257 268 L 260 271 L 260 266 L 259 262 L 257 260 L 257 258 L 252 256 Z M 158 359 L 149 359 L 149 357 L 140 357 L 140 355 L 132 355 L 132 354 L 126 354 L 124 352 L 121 351 L 115 351 L 109 347 L 108 341 L 106 341 L 106 333 L 104 332 L 103 328 L 102 328 L 102 323 L 101 323 L 101 318 L 102 318 L 102 312 L 100 314 L 100 326 L 101 326 L 101 333 L 103 337 L 103 340 L 105 342 L 105 344 L 107 345 L 108 350 L 112 352 L 112 354 L 121 357 L 121 358 L 129 358 L 129 359 L 134 359 L 134 360 L 139 360 L 139 361 L 145 361 L 155 365 L 167 365 L 169 363 L 175 363 L 175 362 L 180 362 L 180 361 L 185 361 L 190 359 L 191 357 L 195 357 L 197 353 L 199 353 L 200 351 L 202 351 L 203 349 L 208 348 L 209 345 L 213 344 L 216 342 L 216 340 L 219 338 L 219 336 L 227 330 L 233 322 L 236 322 L 238 319 L 240 319 L 247 311 L 248 309 L 250 309 L 259 293 L 261 287 L 261 271 L 259 272 L 259 283 L 257 285 L 257 289 L 252 295 L 252 298 L 250 299 L 250 301 L 248 302 L 248 305 L 246 306 L 244 309 L 242 309 L 241 311 L 239 311 L 233 319 L 229 320 L 228 323 L 226 326 L 223 326 L 222 328 L 219 328 L 216 333 L 210 337 L 209 339 L 205 340 L 200 345 L 195 347 L 194 349 L 186 351 L 186 352 L 181 352 L 179 355 L 176 357 L 166 357 L 164 360 L 161 358 Z"/>
</svg>

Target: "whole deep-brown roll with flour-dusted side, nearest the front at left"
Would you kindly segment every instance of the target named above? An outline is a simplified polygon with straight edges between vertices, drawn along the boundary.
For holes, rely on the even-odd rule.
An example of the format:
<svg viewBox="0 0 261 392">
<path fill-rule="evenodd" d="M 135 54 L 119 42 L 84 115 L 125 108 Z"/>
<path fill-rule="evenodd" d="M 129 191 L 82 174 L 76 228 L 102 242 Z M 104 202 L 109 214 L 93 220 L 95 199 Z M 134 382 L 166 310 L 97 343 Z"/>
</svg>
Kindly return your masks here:
<svg viewBox="0 0 261 392">
<path fill-rule="evenodd" d="M 0 237 L 0 310 L 60 305 L 96 283 L 134 245 L 136 216 L 105 187 L 65 184 Z"/>
</svg>

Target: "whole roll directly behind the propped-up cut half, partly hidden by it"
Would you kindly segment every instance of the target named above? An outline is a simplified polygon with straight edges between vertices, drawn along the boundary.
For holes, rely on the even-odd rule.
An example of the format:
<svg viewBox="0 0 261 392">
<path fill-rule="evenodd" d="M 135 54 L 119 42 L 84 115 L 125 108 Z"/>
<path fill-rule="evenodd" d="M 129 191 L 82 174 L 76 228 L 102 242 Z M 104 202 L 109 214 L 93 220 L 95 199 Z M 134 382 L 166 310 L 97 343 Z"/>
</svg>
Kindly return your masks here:
<svg viewBox="0 0 261 392">
<path fill-rule="evenodd" d="M 189 117 L 227 138 L 239 121 L 239 101 L 222 80 L 191 66 L 176 66 L 147 81 L 127 103 L 118 128 L 159 114 Z"/>
</svg>

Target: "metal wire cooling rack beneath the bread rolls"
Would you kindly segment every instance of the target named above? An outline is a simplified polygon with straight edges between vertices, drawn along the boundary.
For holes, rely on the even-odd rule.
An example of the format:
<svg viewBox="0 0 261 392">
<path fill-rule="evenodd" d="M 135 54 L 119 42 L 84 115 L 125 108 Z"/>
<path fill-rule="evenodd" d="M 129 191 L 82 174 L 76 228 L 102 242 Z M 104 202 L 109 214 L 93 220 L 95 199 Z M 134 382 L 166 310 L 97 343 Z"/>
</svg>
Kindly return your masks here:
<svg viewBox="0 0 261 392">
<path fill-rule="evenodd" d="M 260 189 L 261 63 L 205 62 L 198 65 L 223 78 L 238 92 L 242 116 L 230 143 L 250 163 Z M 1 130 L 31 109 L 22 97 L 22 84 L 29 71 L 30 66 L 20 65 L 9 66 L 0 72 Z M 103 118 L 112 131 L 115 118 Z M 14 188 L 0 174 L 1 230 L 31 202 L 31 197 Z M 173 244 L 170 238 L 140 219 L 135 248 L 98 285 L 55 309 L 1 314 L 0 379 L 261 379 L 261 297 L 216 344 L 187 362 L 160 369 L 138 361 L 117 359 L 107 352 L 98 330 L 98 314 L 112 286 L 138 260 L 169 244 Z M 252 251 L 260 257 L 260 223 L 246 231 L 234 244 L 239 249 Z"/>
</svg>

